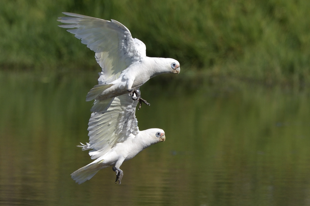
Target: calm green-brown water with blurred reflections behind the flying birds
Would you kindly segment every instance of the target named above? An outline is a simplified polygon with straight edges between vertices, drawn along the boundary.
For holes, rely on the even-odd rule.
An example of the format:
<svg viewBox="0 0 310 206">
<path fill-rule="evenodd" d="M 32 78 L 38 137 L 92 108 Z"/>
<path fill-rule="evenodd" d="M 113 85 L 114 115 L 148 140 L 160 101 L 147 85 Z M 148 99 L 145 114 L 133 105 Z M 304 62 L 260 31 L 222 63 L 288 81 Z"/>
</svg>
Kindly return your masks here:
<svg viewBox="0 0 310 206">
<path fill-rule="evenodd" d="M 0 73 L 1 205 L 310 204 L 309 90 L 155 78 L 136 116 L 166 141 L 124 162 L 121 185 L 112 168 L 78 185 L 95 84 L 88 73 Z"/>
</svg>

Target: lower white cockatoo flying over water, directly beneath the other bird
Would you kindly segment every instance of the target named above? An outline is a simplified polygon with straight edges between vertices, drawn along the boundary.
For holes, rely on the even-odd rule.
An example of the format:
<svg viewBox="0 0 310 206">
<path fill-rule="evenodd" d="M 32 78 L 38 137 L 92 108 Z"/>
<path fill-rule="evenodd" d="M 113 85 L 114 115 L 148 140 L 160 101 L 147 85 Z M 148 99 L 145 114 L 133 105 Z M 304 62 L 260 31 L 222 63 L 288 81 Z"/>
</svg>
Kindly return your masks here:
<svg viewBox="0 0 310 206">
<path fill-rule="evenodd" d="M 140 93 L 139 90 L 137 90 Z M 116 172 L 115 183 L 120 184 L 123 171 L 119 168 L 143 149 L 157 142 L 165 141 L 162 129 L 139 131 L 135 117 L 138 102 L 127 94 L 113 97 L 112 103 L 104 113 L 94 112 L 88 123 L 89 143 L 82 144 L 82 150 L 89 152 L 94 162 L 76 170 L 71 174 L 75 182 L 81 184 L 91 179 L 100 169 L 113 166 Z"/>
</svg>

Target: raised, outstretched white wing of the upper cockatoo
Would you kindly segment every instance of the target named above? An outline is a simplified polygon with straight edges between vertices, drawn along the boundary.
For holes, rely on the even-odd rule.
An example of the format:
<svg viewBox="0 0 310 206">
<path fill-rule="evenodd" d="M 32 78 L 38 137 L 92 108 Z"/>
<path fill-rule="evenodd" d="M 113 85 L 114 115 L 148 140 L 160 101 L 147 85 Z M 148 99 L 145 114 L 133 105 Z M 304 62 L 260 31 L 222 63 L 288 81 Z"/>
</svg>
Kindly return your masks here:
<svg viewBox="0 0 310 206">
<path fill-rule="evenodd" d="M 68 16 L 59 17 L 57 21 L 67 24 L 59 27 L 70 28 L 68 32 L 75 34 L 76 38 L 82 40 L 82 44 L 95 52 L 96 60 L 102 68 L 100 82 L 108 84 L 114 81 L 124 69 L 145 56 L 143 42 L 134 40 L 130 31 L 121 23 L 67 12 L 63 14 Z"/>
</svg>

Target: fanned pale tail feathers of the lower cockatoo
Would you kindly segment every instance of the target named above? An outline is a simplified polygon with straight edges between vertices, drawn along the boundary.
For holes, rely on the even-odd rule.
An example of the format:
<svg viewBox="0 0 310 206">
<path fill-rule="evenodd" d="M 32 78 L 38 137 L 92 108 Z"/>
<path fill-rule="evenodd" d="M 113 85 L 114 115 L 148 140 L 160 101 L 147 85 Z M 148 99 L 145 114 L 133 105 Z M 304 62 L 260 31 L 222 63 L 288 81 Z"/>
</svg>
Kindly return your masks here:
<svg viewBox="0 0 310 206">
<path fill-rule="evenodd" d="M 99 163 L 103 162 L 101 161 L 94 161 L 78 170 L 73 172 L 71 174 L 71 178 L 75 180 L 76 183 L 81 184 L 85 182 L 86 180 L 90 180 L 99 170 L 108 167 L 108 166 L 100 166 Z"/>
</svg>

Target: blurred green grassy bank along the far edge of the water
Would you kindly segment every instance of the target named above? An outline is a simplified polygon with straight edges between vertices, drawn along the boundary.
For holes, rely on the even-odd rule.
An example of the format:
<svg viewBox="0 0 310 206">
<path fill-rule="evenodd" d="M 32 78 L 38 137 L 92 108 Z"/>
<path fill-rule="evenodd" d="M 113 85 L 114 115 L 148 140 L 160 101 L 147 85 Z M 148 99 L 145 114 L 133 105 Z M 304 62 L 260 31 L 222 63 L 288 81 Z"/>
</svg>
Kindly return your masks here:
<svg viewBox="0 0 310 206">
<path fill-rule="evenodd" d="M 2 0 L 0 68 L 99 71 L 94 53 L 57 27 L 66 11 L 123 23 L 148 56 L 177 59 L 185 76 L 304 84 L 309 10 L 307 0 Z"/>
</svg>

